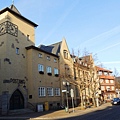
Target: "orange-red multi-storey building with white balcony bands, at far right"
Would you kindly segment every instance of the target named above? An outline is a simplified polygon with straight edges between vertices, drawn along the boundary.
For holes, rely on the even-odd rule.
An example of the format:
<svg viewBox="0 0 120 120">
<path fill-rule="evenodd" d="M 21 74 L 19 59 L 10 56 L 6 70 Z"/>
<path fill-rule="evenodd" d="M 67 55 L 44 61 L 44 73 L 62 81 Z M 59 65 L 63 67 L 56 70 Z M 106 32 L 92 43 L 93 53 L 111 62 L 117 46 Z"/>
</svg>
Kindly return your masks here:
<svg viewBox="0 0 120 120">
<path fill-rule="evenodd" d="M 102 99 L 104 101 L 110 101 L 116 96 L 115 77 L 112 75 L 112 71 L 110 70 L 98 66 L 96 69 L 99 75 Z"/>
</svg>

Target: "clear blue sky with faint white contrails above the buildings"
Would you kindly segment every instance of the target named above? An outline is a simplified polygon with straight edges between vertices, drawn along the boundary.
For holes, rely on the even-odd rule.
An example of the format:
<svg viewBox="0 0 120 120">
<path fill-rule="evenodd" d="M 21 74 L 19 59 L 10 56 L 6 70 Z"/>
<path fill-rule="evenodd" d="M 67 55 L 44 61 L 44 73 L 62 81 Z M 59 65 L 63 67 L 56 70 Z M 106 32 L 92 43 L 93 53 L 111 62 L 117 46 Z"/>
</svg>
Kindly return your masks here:
<svg viewBox="0 0 120 120">
<path fill-rule="evenodd" d="M 120 73 L 120 0 L 0 0 L 0 9 L 14 2 L 38 24 L 35 44 L 66 39 L 70 53 L 96 55 L 96 65 Z"/>
</svg>

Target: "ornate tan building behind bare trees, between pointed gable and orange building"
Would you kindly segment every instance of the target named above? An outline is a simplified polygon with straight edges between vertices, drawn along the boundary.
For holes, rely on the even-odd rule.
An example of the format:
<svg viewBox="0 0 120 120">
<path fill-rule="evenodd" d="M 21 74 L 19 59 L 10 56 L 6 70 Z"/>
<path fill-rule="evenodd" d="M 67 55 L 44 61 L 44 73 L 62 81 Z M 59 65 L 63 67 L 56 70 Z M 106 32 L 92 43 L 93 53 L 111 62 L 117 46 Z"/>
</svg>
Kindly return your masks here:
<svg viewBox="0 0 120 120">
<path fill-rule="evenodd" d="M 77 104 L 84 107 L 91 104 L 99 106 L 100 84 L 92 54 L 73 58 Z"/>
</svg>

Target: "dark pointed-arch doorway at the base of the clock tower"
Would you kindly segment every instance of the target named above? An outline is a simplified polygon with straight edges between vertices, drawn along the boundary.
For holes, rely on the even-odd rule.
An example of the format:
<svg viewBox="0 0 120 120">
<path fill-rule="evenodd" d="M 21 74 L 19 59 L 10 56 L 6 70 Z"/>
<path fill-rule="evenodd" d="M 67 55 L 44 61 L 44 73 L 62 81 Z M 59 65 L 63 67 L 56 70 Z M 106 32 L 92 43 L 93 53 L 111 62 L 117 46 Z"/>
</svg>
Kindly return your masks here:
<svg viewBox="0 0 120 120">
<path fill-rule="evenodd" d="M 10 98 L 10 110 L 23 109 L 24 97 L 22 93 L 17 89 Z"/>
</svg>

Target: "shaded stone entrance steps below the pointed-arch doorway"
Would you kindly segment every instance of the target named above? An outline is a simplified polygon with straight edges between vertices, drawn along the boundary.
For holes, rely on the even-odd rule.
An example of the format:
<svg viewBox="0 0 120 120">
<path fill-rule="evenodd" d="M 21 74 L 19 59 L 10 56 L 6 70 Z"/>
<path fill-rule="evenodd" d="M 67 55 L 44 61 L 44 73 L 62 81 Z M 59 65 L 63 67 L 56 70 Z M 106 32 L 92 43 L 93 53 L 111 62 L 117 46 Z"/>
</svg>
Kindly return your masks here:
<svg viewBox="0 0 120 120">
<path fill-rule="evenodd" d="M 9 115 L 18 115 L 18 114 L 25 114 L 25 113 L 33 113 L 35 111 L 31 109 L 17 109 L 17 110 L 9 110 Z"/>
</svg>

